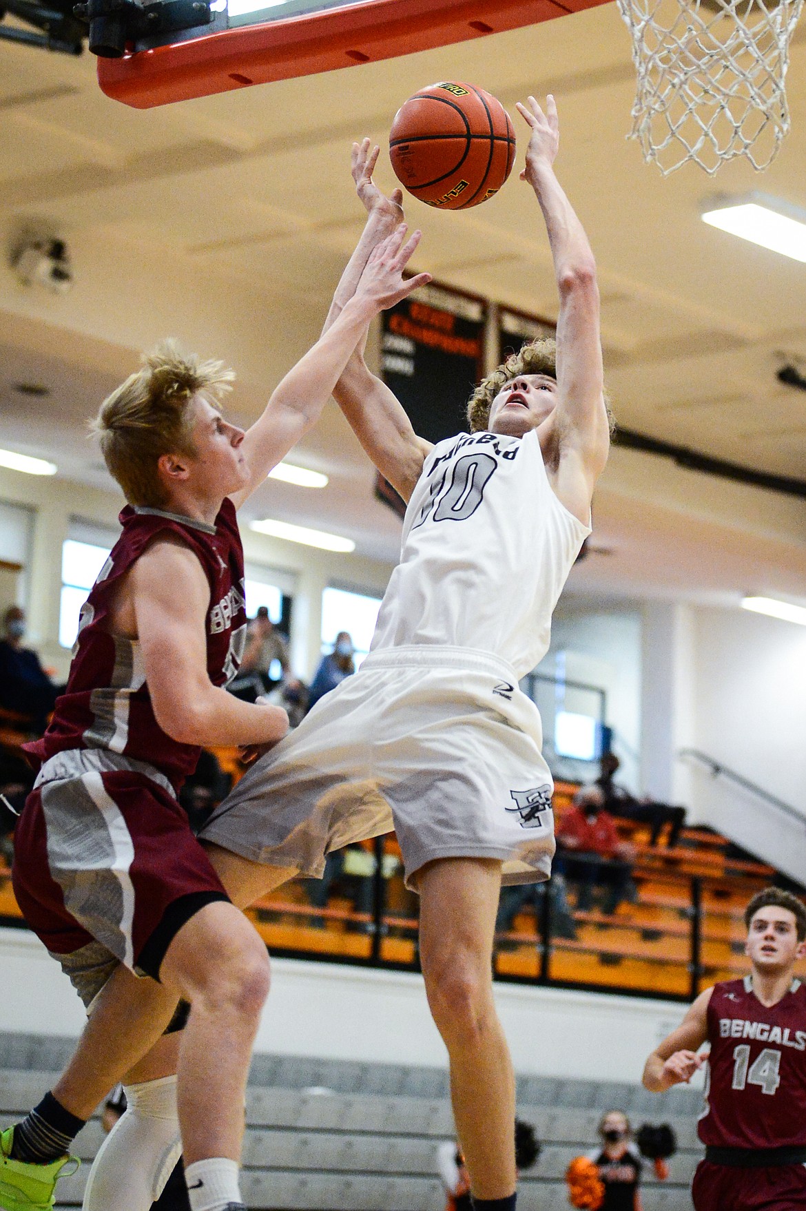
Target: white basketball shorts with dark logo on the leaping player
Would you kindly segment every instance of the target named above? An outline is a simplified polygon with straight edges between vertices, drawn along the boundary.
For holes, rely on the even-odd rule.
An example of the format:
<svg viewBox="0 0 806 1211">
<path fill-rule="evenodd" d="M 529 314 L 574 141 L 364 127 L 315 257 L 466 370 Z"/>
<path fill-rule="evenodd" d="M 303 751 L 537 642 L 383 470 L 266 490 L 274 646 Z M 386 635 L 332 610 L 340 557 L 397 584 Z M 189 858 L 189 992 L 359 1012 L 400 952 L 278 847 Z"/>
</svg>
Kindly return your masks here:
<svg viewBox="0 0 806 1211">
<path fill-rule="evenodd" d="M 441 857 L 503 862 L 503 883 L 547 879 L 553 782 L 537 707 L 483 652 L 370 653 L 255 762 L 201 839 L 321 877 L 324 856 L 388 832 L 407 886 Z"/>
</svg>

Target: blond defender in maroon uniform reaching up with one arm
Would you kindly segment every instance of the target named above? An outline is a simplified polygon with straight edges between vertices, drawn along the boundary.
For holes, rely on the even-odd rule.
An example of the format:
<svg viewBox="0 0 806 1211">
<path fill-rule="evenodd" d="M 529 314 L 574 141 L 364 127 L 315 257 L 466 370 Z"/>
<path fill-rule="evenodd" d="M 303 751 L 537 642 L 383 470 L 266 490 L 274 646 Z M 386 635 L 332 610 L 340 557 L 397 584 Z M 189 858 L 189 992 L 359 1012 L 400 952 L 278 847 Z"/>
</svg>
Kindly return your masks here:
<svg viewBox="0 0 806 1211">
<path fill-rule="evenodd" d="M 45 736 L 29 746 L 39 773 L 17 827 L 13 885 L 87 1009 L 104 1012 L 90 1017 L 53 1091 L 0 1133 L 6 1211 L 53 1205 L 70 1140 L 122 1061 L 134 1101 L 154 1103 L 155 1124 L 169 1120 L 173 1091 L 162 1086 L 174 1078 L 163 1075 L 159 1039 L 177 994 L 190 1003 L 178 1102 L 191 1207 L 243 1206 L 243 1100 L 267 957 L 192 836 L 177 792 L 202 745 L 265 748 L 288 728 L 282 708 L 225 690 L 247 621 L 235 512 L 316 423 L 368 322 L 430 281 L 427 274 L 403 280 L 419 234 L 404 240 L 398 225 L 364 258 L 352 305 L 247 434 L 218 411 L 231 372 L 182 357 L 171 344 L 99 412 L 104 458 L 128 505 L 82 607 L 65 694 Z M 156 1046 L 138 1066 L 144 1022 Z M 162 1043 L 169 1054 L 175 1034 Z M 163 1176 L 172 1153 L 162 1158 Z"/>
</svg>

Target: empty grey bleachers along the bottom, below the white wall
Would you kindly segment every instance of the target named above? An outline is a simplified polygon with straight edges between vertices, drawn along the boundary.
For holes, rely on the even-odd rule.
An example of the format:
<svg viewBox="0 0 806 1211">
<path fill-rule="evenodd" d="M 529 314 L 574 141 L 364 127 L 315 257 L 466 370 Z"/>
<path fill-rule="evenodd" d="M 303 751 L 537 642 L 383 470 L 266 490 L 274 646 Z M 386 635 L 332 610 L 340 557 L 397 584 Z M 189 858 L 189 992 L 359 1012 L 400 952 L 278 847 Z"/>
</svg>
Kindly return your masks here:
<svg viewBox="0 0 806 1211">
<path fill-rule="evenodd" d="M 70 1040 L 34 1035 L 0 1039 L 0 1125 L 35 1104 L 70 1051 Z M 543 1077 L 518 1079 L 518 1114 L 542 1142 L 536 1166 L 522 1176 L 520 1211 L 566 1207 L 564 1173 L 588 1152 L 610 1108 L 633 1126 L 669 1123 L 678 1137 L 670 1173 L 645 1171 L 645 1211 L 690 1211 L 689 1188 L 701 1149 L 700 1095 L 675 1089 L 654 1097 L 637 1085 Z M 247 1097 L 242 1190 L 254 1211 L 442 1211 L 436 1149 L 453 1138 L 448 1077 L 442 1069 L 255 1056 Z M 88 1163 L 102 1140 L 98 1119 L 76 1141 L 85 1164 L 59 1183 L 59 1207 L 81 1205 Z"/>
</svg>

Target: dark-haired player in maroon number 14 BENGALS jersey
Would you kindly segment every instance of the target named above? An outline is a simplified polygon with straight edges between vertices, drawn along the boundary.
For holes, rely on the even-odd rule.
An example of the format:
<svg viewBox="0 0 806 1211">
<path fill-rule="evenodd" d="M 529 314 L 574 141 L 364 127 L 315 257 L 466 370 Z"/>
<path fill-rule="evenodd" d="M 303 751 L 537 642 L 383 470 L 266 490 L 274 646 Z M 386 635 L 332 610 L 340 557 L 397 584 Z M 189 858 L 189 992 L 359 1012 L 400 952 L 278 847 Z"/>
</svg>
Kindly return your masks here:
<svg viewBox="0 0 806 1211">
<path fill-rule="evenodd" d="M 698 1135 L 696 1211 L 806 1207 L 806 986 L 794 976 L 806 954 L 806 908 L 767 888 L 744 912 L 752 971 L 697 997 L 644 1068 L 655 1094 L 708 1064 Z M 698 1055 L 703 1043 L 710 1055 Z"/>
</svg>

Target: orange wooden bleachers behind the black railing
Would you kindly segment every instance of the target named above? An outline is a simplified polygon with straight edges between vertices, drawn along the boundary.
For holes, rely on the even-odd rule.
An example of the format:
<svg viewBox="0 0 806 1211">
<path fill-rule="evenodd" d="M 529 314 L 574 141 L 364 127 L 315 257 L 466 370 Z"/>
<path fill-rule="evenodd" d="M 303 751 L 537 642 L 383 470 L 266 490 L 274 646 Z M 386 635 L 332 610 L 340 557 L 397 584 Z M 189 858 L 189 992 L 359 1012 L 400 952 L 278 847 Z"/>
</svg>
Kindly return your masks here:
<svg viewBox="0 0 806 1211">
<path fill-rule="evenodd" d="M 496 978 L 691 1000 L 716 980 L 744 975 L 743 909 L 772 872 L 727 860 L 719 838 L 691 832 L 684 840 L 695 848 L 644 848 L 615 912 L 595 900 L 581 907 L 570 877 L 505 888 Z M 355 862 L 336 855 L 329 878 L 329 886 L 286 884 L 249 909 L 272 954 L 418 971 L 419 899 L 403 884 L 395 837 L 367 844 Z M 0 924 L 24 928 L 2 867 Z"/>
</svg>

